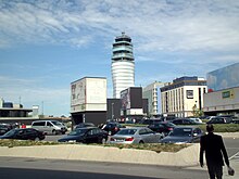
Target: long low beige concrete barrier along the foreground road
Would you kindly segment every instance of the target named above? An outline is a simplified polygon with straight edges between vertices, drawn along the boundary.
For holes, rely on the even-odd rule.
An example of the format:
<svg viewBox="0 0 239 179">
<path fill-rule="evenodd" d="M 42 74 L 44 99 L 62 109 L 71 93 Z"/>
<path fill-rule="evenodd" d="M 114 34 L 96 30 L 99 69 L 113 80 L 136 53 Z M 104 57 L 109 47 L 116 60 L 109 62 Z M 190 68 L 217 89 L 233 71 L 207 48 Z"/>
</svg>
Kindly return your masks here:
<svg viewBox="0 0 239 179">
<path fill-rule="evenodd" d="M 0 148 L 0 156 L 115 162 L 162 166 L 199 165 L 199 144 L 191 144 L 179 152 L 161 152 L 118 149 L 85 144 Z"/>
</svg>

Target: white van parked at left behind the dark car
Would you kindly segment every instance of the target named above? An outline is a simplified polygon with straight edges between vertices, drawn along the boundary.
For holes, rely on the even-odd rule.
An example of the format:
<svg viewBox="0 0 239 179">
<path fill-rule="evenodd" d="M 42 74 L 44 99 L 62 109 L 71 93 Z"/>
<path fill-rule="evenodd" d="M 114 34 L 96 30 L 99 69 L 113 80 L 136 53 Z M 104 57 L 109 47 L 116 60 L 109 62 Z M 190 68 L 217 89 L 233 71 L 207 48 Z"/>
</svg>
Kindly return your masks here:
<svg viewBox="0 0 239 179">
<path fill-rule="evenodd" d="M 32 123 L 32 127 L 48 135 L 64 135 L 67 131 L 67 128 L 58 120 L 35 120 Z"/>
</svg>

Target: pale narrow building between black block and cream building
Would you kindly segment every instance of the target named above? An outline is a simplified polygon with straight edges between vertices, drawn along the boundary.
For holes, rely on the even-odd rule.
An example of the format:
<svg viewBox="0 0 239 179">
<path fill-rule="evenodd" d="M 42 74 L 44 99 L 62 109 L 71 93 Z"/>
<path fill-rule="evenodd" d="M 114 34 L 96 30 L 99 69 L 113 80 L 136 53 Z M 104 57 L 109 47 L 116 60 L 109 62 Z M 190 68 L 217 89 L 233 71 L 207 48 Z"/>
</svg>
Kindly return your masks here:
<svg viewBox="0 0 239 179">
<path fill-rule="evenodd" d="M 160 88 L 163 86 L 163 82 L 155 81 L 142 88 L 142 98 L 148 99 L 148 114 L 150 116 L 155 116 L 162 113 Z"/>
</svg>

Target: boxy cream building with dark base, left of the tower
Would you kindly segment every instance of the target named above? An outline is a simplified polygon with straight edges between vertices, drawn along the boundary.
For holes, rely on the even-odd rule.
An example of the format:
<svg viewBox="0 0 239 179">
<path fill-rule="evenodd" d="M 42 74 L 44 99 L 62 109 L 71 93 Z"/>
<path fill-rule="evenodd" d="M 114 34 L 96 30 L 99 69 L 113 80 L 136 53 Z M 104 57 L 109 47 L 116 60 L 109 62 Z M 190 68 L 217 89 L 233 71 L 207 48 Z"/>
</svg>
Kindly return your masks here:
<svg viewBox="0 0 239 179">
<path fill-rule="evenodd" d="M 106 78 L 84 77 L 71 84 L 73 125 L 106 120 Z"/>
</svg>

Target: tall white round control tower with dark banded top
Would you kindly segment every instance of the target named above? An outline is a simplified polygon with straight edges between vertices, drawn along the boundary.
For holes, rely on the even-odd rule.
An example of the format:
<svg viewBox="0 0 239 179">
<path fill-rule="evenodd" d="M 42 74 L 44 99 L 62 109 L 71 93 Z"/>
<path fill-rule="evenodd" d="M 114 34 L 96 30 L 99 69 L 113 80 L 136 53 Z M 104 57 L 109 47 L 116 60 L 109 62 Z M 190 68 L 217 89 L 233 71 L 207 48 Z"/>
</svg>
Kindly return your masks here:
<svg viewBox="0 0 239 179">
<path fill-rule="evenodd" d="M 113 98 L 120 99 L 121 91 L 135 87 L 135 60 L 131 38 L 122 33 L 115 38 L 112 55 Z"/>
</svg>

